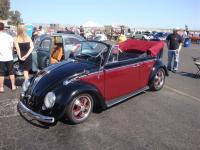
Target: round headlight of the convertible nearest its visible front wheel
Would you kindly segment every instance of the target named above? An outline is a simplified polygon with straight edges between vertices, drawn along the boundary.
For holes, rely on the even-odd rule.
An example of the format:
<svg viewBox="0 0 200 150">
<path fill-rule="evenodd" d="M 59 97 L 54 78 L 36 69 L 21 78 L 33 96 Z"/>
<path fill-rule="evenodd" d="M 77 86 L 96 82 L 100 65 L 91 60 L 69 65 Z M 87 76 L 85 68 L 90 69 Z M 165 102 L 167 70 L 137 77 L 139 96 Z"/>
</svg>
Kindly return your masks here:
<svg viewBox="0 0 200 150">
<path fill-rule="evenodd" d="M 44 106 L 46 108 L 52 108 L 56 101 L 56 95 L 54 92 L 48 92 L 44 98 Z"/>
</svg>

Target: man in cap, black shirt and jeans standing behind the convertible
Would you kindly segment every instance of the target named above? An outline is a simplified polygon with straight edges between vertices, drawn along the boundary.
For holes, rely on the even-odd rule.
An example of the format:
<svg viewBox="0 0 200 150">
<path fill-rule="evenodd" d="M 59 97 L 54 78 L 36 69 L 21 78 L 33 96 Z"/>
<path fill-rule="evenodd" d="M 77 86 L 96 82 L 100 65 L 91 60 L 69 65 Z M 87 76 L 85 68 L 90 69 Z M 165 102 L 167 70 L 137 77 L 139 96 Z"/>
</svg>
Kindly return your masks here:
<svg viewBox="0 0 200 150">
<path fill-rule="evenodd" d="M 174 28 L 173 33 L 167 37 L 168 64 L 167 69 L 174 73 L 178 70 L 179 52 L 182 48 L 182 37 L 178 34 L 179 28 Z"/>
</svg>

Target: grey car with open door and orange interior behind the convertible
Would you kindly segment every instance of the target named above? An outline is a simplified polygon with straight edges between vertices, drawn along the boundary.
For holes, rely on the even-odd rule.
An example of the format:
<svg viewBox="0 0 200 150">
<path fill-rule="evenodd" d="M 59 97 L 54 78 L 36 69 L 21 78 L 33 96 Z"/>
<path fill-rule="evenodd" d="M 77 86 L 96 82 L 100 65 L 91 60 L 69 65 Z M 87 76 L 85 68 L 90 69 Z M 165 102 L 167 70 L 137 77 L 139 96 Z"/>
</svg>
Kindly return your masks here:
<svg viewBox="0 0 200 150">
<path fill-rule="evenodd" d="M 42 35 L 35 40 L 32 52 L 32 70 L 37 72 L 50 64 L 68 59 L 71 52 L 75 51 L 81 41 L 85 41 L 75 34 Z M 17 55 L 14 55 L 14 69 L 16 75 L 23 75 Z"/>
</svg>

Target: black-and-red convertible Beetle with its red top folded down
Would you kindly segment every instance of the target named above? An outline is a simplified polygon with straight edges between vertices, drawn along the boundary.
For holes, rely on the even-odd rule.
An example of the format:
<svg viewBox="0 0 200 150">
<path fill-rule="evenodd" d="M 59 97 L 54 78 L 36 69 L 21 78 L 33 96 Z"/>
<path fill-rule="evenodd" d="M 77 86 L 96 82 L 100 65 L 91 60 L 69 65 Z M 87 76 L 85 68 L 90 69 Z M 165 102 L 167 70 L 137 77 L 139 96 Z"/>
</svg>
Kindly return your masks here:
<svg viewBox="0 0 200 150">
<path fill-rule="evenodd" d="M 111 107 L 147 89 L 160 90 L 168 75 L 159 55 L 163 47 L 163 42 L 140 40 L 117 46 L 81 42 L 74 59 L 51 65 L 24 81 L 18 110 L 40 122 L 66 119 L 77 124 L 93 108 Z"/>
</svg>

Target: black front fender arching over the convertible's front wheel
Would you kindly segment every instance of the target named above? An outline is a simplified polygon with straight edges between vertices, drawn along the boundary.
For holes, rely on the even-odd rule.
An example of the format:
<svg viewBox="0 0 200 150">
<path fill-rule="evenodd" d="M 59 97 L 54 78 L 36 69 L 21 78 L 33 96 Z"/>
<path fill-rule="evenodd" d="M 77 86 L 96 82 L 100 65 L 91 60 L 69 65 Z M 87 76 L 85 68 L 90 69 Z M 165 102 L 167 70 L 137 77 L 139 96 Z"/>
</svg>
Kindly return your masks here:
<svg viewBox="0 0 200 150">
<path fill-rule="evenodd" d="M 73 98 L 82 93 L 91 94 L 94 99 L 94 104 L 100 106 L 100 108 L 105 109 L 106 104 L 104 98 L 100 91 L 94 86 L 84 81 L 72 81 L 67 85 L 62 85 L 55 91 L 58 94 L 58 101 L 56 102 L 52 113 L 55 118 L 60 119 L 64 116 L 67 106 L 73 100 Z"/>
</svg>

